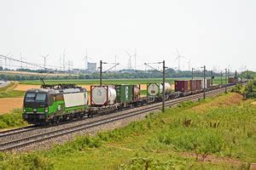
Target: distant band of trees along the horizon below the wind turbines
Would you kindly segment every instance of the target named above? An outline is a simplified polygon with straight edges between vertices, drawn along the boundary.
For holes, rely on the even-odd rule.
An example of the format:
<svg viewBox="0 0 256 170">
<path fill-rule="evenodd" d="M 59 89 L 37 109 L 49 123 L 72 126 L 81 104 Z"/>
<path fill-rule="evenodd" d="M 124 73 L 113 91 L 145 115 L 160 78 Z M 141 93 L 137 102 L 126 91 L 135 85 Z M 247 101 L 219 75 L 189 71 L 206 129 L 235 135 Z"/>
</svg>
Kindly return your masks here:
<svg viewBox="0 0 256 170">
<path fill-rule="evenodd" d="M 17 71 L 20 71 L 18 73 Z M 26 80 L 39 80 L 40 77 L 44 77 L 45 71 L 35 71 L 35 70 L 26 70 L 26 69 L 18 69 L 17 71 L 1 71 L 0 69 L 0 80 L 11 80 L 11 81 L 26 81 Z M 25 72 L 21 72 L 25 71 Z M 33 74 L 30 74 L 33 72 Z M 44 73 L 44 75 L 43 75 Z M 99 72 L 94 73 L 86 73 L 84 71 L 74 72 L 69 71 L 54 71 L 55 74 L 49 74 L 45 77 L 48 80 L 71 80 L 71 79 L 99 79 Z M 210 77 L 210 71 L 206 72 L 207 77 Z M 194 71 L 195 77 L 203 77 L 203 71 Z M 219 73 L 214 73 L 215 77 L 219 77 Z M 117 71 L 117 72 L 106 72 L 102 75 L 103 79 L 133 79 L 133 78 L 161 78 L 162 74 L 159 71 Z M 191 77 L 191 71 L 174 71 L 173 69 L 169 68 L 166 69 L 166 77 Z"/>
</svg>

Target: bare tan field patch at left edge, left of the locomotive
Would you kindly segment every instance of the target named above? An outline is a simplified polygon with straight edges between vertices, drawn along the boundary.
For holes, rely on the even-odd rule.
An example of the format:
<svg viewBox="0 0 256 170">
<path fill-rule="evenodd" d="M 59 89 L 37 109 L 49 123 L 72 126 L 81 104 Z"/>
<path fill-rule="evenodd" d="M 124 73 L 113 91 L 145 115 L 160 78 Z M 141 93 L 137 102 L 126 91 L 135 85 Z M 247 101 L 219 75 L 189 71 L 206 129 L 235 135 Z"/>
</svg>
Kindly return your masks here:
<svg viewBox="0 0 256 170">
<path fill-rule="evenodd" d="M 8 113 L 17 108 L 21 108 L 23 105 L 23 98 L 3 98 L 0 99 L 0 115 Z"/>
</svg>

